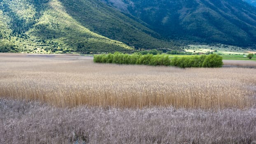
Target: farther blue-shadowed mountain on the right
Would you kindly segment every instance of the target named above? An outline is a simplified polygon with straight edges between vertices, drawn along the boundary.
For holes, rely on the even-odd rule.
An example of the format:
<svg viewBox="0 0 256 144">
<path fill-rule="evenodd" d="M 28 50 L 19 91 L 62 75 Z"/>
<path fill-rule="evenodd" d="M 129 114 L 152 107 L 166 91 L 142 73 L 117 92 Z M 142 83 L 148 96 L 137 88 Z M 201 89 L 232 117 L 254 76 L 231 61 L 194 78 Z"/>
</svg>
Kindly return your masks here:
<svg viewBox="0 0 256 144">
<path fill-rule="evenodd" d="M 242 0 L 103 1 L 141 19 L 165 38 L 237 46 L 256 43 L 256 7 Z"/>
</svg>

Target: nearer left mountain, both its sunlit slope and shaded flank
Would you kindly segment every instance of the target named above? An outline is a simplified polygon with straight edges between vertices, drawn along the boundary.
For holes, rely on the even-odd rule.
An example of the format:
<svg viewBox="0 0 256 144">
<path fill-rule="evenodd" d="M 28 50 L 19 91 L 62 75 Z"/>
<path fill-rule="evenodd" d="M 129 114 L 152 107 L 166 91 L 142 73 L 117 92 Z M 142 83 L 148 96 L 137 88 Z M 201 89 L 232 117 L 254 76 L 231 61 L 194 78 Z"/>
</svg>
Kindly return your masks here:
<svg viewBox="0 0 256 144">
<path fill-rule="evenodd" d="M 172 46 L 143 24 L 97 0 L 0 0 L 0 52 L 124 52 Z"/>
</svg>

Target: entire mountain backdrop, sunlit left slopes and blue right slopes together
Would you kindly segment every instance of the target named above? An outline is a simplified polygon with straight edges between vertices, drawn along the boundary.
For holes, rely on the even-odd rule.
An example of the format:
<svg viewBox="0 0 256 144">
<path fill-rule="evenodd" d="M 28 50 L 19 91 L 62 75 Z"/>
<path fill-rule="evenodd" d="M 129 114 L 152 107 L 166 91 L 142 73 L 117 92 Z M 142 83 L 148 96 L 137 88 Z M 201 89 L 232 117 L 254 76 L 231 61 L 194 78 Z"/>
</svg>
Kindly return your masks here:
<svg viewBox="0 0 256 144">
<path fill-rule="evenodd" d="M 0 52 L 131 52 L 193 43 L 256 47 L 256 7 L 242 0 L 0 0 Z"/>
</svg>

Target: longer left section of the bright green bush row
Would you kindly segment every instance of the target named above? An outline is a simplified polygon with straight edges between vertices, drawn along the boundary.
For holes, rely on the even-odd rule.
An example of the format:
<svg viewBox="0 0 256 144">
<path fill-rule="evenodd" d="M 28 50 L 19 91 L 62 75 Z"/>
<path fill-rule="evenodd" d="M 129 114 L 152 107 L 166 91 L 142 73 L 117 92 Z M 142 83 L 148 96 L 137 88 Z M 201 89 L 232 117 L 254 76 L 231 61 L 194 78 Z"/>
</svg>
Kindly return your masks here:
<svg viewBox="0 0 256 144">
<path fill-rule="evenodd" d="M 128 65 L 170 65 L 170 59 L 168 56 L 147 54 L 142 55 L 141 53 L 133 53 L 132 55 L 115 52 L 114 54 L 109 53 L 107 55 L 94 55 L 95 63 L 117 63 L 117 64 L 128 64 Z"/>
</svg>

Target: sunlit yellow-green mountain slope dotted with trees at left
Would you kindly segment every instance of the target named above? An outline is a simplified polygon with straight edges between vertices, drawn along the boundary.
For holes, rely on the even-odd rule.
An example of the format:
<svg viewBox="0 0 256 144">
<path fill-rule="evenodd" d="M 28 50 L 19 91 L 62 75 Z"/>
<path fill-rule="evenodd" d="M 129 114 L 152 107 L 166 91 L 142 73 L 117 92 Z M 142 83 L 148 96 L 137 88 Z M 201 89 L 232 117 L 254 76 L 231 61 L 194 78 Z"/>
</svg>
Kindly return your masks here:
<svg viewBox="0 0 256 144">
<path fill-rule="evenodd" d="M 65 12 L 58 0 L 2 1 L 2 51 L 129 51 L 126 44 L 91 32 Z M 37 6 L 40 7 L 37 7 Z M 6 21 L 5 21 L 6 20 Z"/>
</svg>

